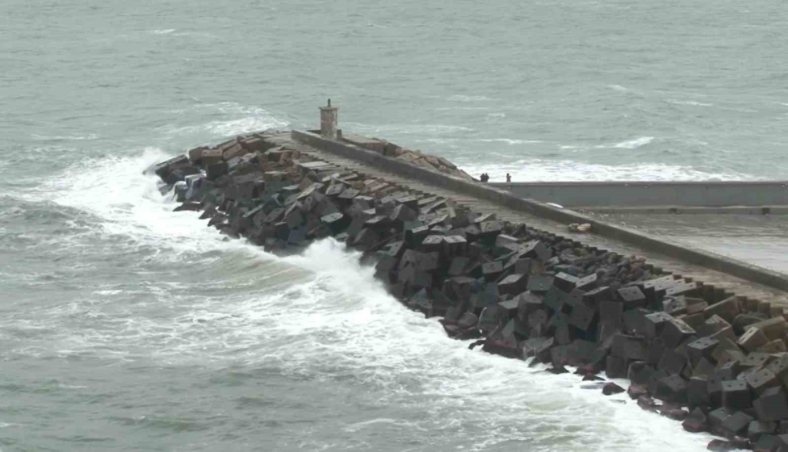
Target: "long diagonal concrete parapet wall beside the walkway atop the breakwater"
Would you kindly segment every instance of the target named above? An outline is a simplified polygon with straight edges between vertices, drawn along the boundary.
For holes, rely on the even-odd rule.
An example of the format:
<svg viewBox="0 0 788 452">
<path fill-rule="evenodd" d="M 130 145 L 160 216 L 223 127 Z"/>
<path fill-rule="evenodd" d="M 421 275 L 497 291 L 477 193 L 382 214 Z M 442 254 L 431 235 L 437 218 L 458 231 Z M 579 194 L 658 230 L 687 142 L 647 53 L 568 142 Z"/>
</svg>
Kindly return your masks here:
<svg viewBox="0 0 788 452">
<path fill-rule="evenodd" d="M 535 199 L 522 198 L 514 195 L 510 191 L 491 187 L 486 184 L 471 182 L 455 176 L 448 176 L 439 172 L 433 172 L 422 167 L 398 161 L 391 157 L 379 154 L 374 151 L 361 149 L 349 143 L 340 143 L 323 139 L 320 135 L 311 132 L 292 131 L 292 139 L 306 143 L 318 149 L 329 151 L 343 157 L 348 157 L 356 161 L 361 161 L 367 165 L 385 169 L 388 172 L 395 172 L 403 176 L 408 176 L 437 187 L 444 187 L 449 190 L 457 191 L 464 195 L 474 196 L 487 201 L 496 202 L 510 209 L 532 213 L 538 217 L 549 220 L 559 221 L 565 224 L 589 223 L 594 234 L 632 243 L 648 250 L 654 250 L 660 254 L 673 257 L 680 261 L 690 264 L 701 265 L 707 269 L 713 269 L 730 275 L 738 276 L 744 280 L 761 283 L 769 287 L 775 287 L 782 291 L 788 291 L 788 275 L 764 269 L 757 265 L 751 265 L 744 261 L 739 261 L 731 257 L 700 250 L 693 246 L 673 243 L 664 239 L 655 239 L 641 232 L 623 228 L 616 224 L 605 223 L 594 217 L 575 212 L 571 209 L 559 209 L 550 206 L 545 202 Z"/>
</svg>

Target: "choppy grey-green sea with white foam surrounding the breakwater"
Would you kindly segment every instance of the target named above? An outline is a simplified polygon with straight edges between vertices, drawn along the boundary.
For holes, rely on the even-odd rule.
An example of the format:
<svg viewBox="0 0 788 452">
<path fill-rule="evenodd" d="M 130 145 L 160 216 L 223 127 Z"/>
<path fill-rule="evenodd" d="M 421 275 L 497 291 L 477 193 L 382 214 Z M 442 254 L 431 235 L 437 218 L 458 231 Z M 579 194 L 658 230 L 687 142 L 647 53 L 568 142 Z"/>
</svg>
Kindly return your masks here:
<svg viewBox="0 0 788 452">
<path fill-rule="evenodd" d="M 0 2 L 0 450 L 704 450 L 141 170 L 311 128 L 493 180 L 779 179 L 785 2 Z"/>
</svg>

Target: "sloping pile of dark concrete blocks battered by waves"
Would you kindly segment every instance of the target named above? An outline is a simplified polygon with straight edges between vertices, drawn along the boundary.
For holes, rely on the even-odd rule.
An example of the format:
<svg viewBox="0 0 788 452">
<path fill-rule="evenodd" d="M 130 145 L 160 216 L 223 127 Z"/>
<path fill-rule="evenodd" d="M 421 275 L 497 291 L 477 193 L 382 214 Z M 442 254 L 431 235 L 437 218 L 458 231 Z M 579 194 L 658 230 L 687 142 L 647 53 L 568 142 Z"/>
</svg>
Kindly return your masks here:
<svg viewBox="0 0 788 452">
<path fill-rule="evenodd" d="M 276 144 L 248 135 L 151 171 L 163 193 L 174 187 L 176 210 L 201 211 L 229 237 L 274 252 L 327 237 L 362 250 L 395 298 L 472 348 L 575 366 L 585 380 L 627 377 L 642 408 L 728 438 L 715 447 L 788 447 L 782 308 Z"/>
</svg>

